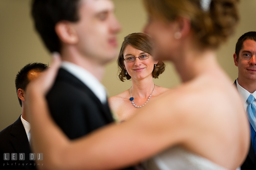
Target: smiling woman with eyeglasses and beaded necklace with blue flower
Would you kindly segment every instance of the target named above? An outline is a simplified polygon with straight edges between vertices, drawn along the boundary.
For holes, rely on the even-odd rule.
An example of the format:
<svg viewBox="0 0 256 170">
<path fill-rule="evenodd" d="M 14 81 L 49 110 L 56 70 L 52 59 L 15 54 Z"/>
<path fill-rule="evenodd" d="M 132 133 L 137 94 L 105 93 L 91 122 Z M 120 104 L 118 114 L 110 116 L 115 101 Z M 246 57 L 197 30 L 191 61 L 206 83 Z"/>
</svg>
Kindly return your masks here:
<svg viewBox="0 0 256 170">
<path fill-rule="evenodd" d="M 118 121 L 128 120 L 136 111 L 149 105 L 156 96 L 168 89 L 156 86 L 153 78 L 164 72 L 164 62 L 154 60 L 150 37 L 132 33 L 124 37 L 117 63 L 119 79 L 132 80 L 132 87 L 108 99 Z"/>
</svg>

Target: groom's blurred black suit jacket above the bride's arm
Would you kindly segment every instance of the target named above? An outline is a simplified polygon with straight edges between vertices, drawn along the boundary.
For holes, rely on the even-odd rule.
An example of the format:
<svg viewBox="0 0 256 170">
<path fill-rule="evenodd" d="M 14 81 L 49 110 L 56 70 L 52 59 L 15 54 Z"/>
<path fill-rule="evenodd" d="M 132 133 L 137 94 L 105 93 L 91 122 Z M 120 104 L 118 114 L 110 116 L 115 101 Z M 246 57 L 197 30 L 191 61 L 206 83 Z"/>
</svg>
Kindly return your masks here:
<svg viewBox="0 0 256 170">
<path fill-rule="evenodd" d="M 63 68 L 47 100 L 53 119 L 70 139 L 113 122 L 108 103 L 102 104 L 84 83 Z"/>
</svg>

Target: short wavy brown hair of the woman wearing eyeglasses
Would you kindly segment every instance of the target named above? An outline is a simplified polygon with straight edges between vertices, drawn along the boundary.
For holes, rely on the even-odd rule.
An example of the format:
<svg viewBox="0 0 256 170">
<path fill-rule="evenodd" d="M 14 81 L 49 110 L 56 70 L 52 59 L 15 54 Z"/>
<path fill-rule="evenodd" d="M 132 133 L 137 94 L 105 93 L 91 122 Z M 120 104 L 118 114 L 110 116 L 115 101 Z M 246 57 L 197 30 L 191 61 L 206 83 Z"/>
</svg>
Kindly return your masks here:
<svg viewBox="0 0 256 170">
<path fill-rule="evenodd" d="M 129 74 L 125 74 L 126 70 L 124 69 L 123 62 L 124 62 L 124 50 L 126 49 L 127 45 L 131 45 L 134 48 L 144 51 L 148 54 L 152 54 L 152 43 L 150 41 L 150 37 L 143 33 L 132 33 L 124 37 L 124 41 L 121 46 L 120 53 L 118 55 L 117 64 L 118 64 L 118 72 L 119 72 L 119 79 L 123 82 L 126 78 L 127 80 L 130 79 Z M 159 61 L 158 64 L 153 69 L 153 77 L 158 78 L 158 76 L 163 73 L 165 70 L 165 64 L 162 61 Z"/>
</svg>

